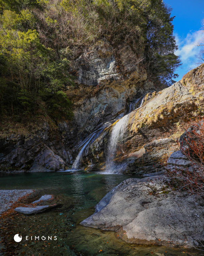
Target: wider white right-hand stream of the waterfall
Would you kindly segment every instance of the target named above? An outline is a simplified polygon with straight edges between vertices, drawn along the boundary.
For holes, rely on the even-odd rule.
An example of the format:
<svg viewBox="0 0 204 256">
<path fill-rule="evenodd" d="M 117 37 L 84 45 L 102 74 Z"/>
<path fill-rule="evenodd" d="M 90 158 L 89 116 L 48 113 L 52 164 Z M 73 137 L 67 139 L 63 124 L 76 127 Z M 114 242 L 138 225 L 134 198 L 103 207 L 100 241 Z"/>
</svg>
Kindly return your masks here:
<svg viewBox="0 0 204 256">
<path fill-rule="evenodd" d="M 132 105 L 130 104 L 130 108 L 129 108 L 129 114 L 132 112 L 132 107 L 133 104 L 134 106 L 136 105 L 136 103 L 140 100 L 141 98 L 137 99 L 136 101 L 134 101 L 132 103 Z M 139 105 L 139 108 L 141 108 L 142 104 L 144 101 L 144 97 L 142 97 L 141 99 L 141 103 Z M 137 110 L 135 109 L 135 110 Z M 129 114 L 123 116 L 112 128 L 111 131 L 111 136 L 109 138 L 109 144 L 108 144 L 108 149 L 107 149 L 107 157 L 106 157 L 106 171 L 105 173 L 109 173 L 109 174 L 116 174 L 116 173 L 120 173 L 121 169 L 124 168 L 124 165 L 116 165 L 113 161 L 114 157 L 115 157 L 115 153 L 117 150 L 117 146 L 118 146 L 118 141 L 121 141 L 123 139 L 123 135 L 124 132 L 127 128 L 128 125 L 128 120 L 129 120 Z M 122 148 L 121 148 L 122 150 Z"/>
</svg>

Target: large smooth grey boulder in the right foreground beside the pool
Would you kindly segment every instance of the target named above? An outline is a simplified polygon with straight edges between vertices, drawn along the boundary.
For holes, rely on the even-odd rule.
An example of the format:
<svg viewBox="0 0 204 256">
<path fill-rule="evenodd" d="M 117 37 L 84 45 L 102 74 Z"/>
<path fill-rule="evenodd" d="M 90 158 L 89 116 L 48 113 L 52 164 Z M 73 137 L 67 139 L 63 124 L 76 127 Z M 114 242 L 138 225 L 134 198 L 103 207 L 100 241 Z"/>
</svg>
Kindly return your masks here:
<svg viewBox="0 0 204 256">
<path fill-rule="evenodd" d="M 128 179 L 81 225 L 114 230 L 126 242 L 193 247 L 204 239 L 204 200 L 171 191 L 165 177 Z"/>
</svg>

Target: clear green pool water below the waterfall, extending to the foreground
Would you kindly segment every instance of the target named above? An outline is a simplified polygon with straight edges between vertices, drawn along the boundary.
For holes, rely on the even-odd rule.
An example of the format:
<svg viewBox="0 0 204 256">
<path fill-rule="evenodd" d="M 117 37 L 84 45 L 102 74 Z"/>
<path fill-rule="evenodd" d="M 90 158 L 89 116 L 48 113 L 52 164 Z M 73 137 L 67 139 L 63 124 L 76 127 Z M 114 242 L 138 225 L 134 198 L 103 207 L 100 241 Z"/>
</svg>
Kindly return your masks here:
<svg viewBox="0 0 204 256">
<path fill-rule="evenodd" d="M 117 233 L 81 226 L 79 223 L 94 213 L 102 197 L 129 178 L 127 175 L 83 174 L 68 172 L 28 173 L 0 176 L 0 189 L 35 189 L 35 196 L 24 199 L 30 203 L 44 194 L 53 194 L 54 202 L 62 204 L 50 212 L 26 216 L 16 212 L 0 219 L 0 237 L 6 241 L 5 255 L 204 255 L 186 249 L 129 244 Z M 23 239 L 16 244 L 14 234 Z M 31 240 L 31 236 L 57 236 L 57 240 Z M 24 238 L 29 236 L 29 240 Z M 185 253 L 185 254 L 184 254 Z"/>
</svg>

